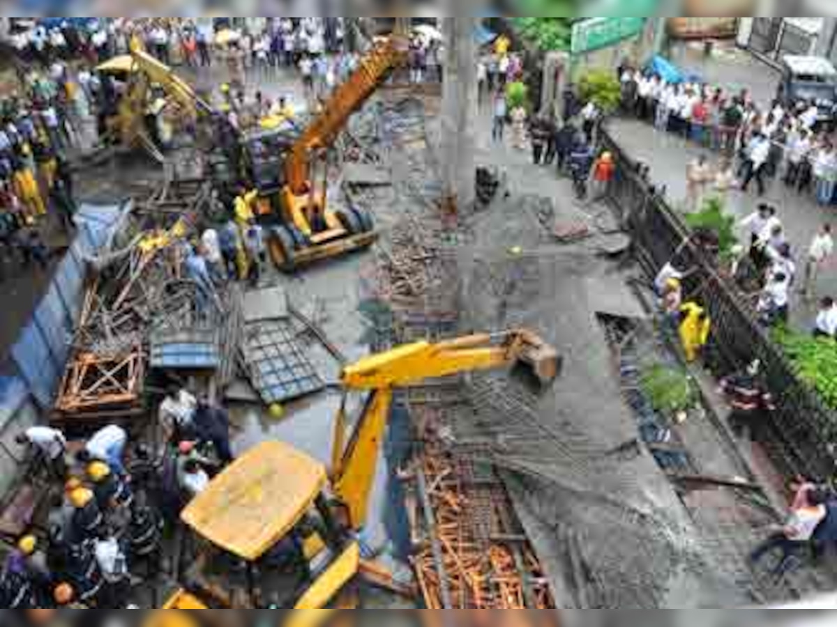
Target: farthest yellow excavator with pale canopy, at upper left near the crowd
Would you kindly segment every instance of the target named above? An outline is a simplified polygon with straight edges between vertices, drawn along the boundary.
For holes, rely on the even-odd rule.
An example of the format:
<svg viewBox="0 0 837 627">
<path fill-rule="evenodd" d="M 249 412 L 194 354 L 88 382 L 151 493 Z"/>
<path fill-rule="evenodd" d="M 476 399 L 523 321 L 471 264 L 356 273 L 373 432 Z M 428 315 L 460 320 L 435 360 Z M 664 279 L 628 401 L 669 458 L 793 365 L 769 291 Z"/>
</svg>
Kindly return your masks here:
<svg viewBox="0 0 837 627">
<path fill-rule="evenodd" d="M 154 96 L 155 89 L 162 90 L 165 101 L 177 105 L 183 125 L 197 125 L 203 116 L 213 115 L 212 106 L 190 84 L 139 48 L 105 61 L 96 68 L 96 73 L 100 78 L 113 80 L 121 92 L 115 110 L 105 120 L 106 130 L 121 145 L 131 149 L 141 147 L 157 161 L 164 161 L 164 157 L 146 121 L 149 113 L 162 104 Z"/>
</svg>

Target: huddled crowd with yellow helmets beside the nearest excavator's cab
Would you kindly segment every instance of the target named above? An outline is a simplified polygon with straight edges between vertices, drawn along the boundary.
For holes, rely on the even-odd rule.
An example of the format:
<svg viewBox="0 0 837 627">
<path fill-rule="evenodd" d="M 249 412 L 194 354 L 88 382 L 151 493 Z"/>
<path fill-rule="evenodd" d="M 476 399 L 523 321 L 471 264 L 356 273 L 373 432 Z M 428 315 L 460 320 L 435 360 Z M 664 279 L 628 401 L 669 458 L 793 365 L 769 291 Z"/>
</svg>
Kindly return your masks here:
<svg viewBox="0 0 837 627">
<path fill-rule="evenodd" d="M 83 442 L 49 426 L 18 435 L 50 509 L 46 533 L 18 538 L 3 564 L 4 608 L 132 607 L 132 587 L 161 568 L 166 525 L 233 461 L 222 407 L 173 385 L 159 415 L 162 458 L 116 425 Z"/>
</svg>

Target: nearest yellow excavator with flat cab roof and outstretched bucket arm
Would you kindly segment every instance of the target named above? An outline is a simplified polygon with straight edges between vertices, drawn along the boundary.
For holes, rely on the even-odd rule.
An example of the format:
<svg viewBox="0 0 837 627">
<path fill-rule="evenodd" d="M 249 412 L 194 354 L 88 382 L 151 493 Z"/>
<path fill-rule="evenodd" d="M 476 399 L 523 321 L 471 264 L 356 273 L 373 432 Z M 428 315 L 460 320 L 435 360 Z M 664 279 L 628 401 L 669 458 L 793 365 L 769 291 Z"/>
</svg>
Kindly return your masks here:
<svg viewBox="0 0 837 627">
<path fill-rule="evenodd" d="M 348 366 L 341 374 L 344 402 L 336 417 L 331 472 L 279 441 L 241 456 L 183 510 L 193 558 L 182 589 L 162 609 L 306 610 L 293 613 L 306 624 L 351 607 L 341 593 L 351 589 L 361 568 L 355 532 L 367 522 L 393 392 L 519 364 L 539 385 L 552 382 L 561 369 L 556 350 L 527 330 L 408 344 Z M 348 392 L 369 394 L 350 437 Z"/>
</svg>

